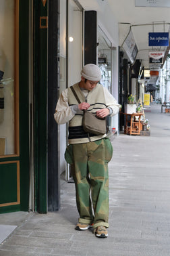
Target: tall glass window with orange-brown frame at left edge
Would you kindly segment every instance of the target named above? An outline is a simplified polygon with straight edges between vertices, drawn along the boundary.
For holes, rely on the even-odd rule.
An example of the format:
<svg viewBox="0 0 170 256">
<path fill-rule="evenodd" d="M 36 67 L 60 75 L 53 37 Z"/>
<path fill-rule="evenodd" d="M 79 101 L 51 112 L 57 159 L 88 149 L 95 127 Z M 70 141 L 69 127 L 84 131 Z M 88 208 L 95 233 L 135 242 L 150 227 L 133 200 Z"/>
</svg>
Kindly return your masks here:
<svg viewBox="0 0 170 256">
<path fill-rule="evenodd" d="M 18 154 L 18 1 L 0 1 L 0 156 Z"/>
</svg>

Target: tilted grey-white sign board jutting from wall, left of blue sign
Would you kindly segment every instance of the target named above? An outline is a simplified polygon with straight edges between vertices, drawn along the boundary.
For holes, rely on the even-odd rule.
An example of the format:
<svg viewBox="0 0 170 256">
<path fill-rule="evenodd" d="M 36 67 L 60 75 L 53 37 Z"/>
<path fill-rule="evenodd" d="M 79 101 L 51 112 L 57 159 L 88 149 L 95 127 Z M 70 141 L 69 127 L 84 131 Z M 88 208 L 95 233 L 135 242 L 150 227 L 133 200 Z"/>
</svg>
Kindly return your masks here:
<svg viewBox="0 0 170 256">
<path fill-rule="evenodd" d="M 130 30 L 128 37 L 126 37 L 126 39 L 123 43 L 123 49 L 125 50 L 126 54 L 130 58 L 130 61 L 132 63 L 134 63 L 136 56 L 138 54 L 138 47 L 135 43 L 135 39 L 134 39 L 132 30 Z"/>
</svg>

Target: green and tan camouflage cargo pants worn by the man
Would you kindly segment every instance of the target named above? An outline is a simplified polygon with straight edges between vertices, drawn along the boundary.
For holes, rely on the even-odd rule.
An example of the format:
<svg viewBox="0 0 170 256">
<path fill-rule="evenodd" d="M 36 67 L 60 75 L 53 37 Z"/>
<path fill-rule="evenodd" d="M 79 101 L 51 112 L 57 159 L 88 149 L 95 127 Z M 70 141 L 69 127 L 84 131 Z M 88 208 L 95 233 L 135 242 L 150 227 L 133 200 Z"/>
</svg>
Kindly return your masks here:
<svg viewBox="0 0 170 256">
<path fill-rule="evenodd" d="M 65 160 L 74 165 L 72 173 L 76 186 L 79 222 L 94 223 L 94 228 L 109 228 L 108 162 L 113 147 L 109 138 L 84 144 L 70 144 Z"/>
</svg>

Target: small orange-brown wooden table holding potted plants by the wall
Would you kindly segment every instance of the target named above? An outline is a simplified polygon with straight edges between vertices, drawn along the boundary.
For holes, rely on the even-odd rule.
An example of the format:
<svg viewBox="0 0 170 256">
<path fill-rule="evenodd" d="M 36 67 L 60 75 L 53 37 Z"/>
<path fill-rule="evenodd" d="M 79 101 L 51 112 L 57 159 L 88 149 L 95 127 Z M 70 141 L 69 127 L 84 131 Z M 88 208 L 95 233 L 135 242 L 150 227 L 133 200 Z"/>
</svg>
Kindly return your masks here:
<svg viewBox="0 0 170 256">
<path fill-rule="evenodd" d="M 140 119 L 143 113 L 123 114 L 125 114 L 124 133 L 130 135 L 140 135 L 140 131 L 142 130 L 142 123 Z M 130 116 L 130 120 L 128 120 L 128 116 Z M 135 116 L 139 116 L 139 119 L 135 120 Z"/>
</svg>

